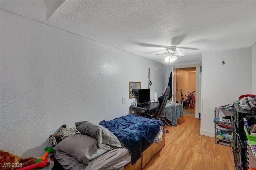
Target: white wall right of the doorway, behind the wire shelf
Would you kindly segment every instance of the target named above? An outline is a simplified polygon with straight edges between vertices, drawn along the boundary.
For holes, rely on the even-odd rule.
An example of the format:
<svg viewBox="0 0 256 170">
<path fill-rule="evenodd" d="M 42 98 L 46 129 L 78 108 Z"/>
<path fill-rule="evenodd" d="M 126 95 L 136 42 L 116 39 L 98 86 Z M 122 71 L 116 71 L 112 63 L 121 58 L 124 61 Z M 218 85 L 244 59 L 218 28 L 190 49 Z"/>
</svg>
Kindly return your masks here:
<svg viewBox="0 0 256 170">
<path fill-rule="evenodd" d="M 214 108 L 236 102 L 251 89 L 252 48 L 203 53 L 200 134 L 214 137 Z"/>
</svg>

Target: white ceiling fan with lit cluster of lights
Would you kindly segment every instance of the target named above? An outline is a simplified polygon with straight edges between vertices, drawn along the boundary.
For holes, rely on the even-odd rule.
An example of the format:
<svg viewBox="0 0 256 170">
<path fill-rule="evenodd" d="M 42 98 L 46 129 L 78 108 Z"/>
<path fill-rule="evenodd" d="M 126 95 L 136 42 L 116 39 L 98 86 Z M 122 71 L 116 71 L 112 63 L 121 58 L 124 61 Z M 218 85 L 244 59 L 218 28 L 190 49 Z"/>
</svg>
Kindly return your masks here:
<svg viewBox="0 0 256 170">
<path fill-rule="evenodd" d="M 184 53 L 184 52 L 188 52 L 188 50 L 178 50 L 178 51 L 176 51 L 176 46 L 168 46 L 165 49 L 166 49 L 166 53 L 156 54 L 156 55 L 162 55 L 162 56 L 159 56 L 157 58 L 167 56 L 166 58 L 164 58 L 164 60 L 165 60 L 165 62 L 170 62 L 170 63 L 177 60 L 178 56 L 185 56 L 186 53 Z"/>
</svg>

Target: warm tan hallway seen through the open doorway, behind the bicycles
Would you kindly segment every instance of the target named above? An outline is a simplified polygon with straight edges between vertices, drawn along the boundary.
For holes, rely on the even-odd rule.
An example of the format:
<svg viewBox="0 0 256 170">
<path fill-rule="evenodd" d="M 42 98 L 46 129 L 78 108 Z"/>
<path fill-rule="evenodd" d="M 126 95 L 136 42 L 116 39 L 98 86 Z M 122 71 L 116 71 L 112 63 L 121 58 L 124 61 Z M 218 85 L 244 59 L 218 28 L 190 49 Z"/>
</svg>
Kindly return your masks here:
<svg viewBox="0 0 256 170">
<path fill-rule="evenodd" d="M 184 99 L 188 99 L 189 92 L 196 91 L 196 67 L 176 68 L 176 102 L 181 104 L 181 93 Z M 194 93 L 196 98 L 196 93 Z M 188 105 L 188 109 L 184 109 L 184 114 L 188 116 L 196 116 L 196 106 L 191 103 Z"/>
</svg>

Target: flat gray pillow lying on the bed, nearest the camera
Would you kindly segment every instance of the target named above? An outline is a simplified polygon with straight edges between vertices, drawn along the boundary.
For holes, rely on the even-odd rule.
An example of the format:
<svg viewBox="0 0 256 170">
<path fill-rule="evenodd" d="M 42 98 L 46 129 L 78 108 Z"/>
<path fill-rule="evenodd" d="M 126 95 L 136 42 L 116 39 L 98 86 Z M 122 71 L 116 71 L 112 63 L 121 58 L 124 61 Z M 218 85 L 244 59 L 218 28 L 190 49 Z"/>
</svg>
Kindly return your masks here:
<svg viewBox="0 0 256 170">
<path fill-rule="evenodd" d="M 80 162 L 88 164 L 98 150 L 98 140 L 83 134 L 74 134 L 62 140 L 54 149 L 62 150 L 74 156 Z"/>
</svg>

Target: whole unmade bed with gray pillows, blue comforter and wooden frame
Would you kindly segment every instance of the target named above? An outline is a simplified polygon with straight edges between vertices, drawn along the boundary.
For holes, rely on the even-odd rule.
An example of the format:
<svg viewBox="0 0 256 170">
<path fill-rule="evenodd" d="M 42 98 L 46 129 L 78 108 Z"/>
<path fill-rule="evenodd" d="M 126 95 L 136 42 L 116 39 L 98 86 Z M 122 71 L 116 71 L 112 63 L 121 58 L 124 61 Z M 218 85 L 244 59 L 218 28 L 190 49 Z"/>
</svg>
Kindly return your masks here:
<svg viewBox="0 0 256 170">
<path fill-rule="evenodd" d="M 57 170 L 140 170 L 164 147 L 160 120 L 121 116 L 98 125 L 76 122 L 81 134 L 62 140 L 54 149 Z"/>
</svg>

